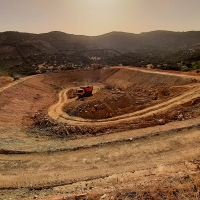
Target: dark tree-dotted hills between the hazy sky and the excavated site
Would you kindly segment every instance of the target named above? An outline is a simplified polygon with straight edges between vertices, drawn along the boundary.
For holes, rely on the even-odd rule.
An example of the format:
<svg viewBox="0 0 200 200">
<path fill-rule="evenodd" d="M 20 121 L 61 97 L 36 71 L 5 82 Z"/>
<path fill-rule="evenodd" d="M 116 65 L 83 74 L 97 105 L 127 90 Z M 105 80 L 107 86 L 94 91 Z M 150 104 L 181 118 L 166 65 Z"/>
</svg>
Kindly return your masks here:
<svg viewBox="0 0 200 200">
<path fill-rule="evenodd" d="M 111 32 L 81 36 L 63 32 L 0 33 L 0 70 L 10 74 L 106 65 L 198 70 L 200 31 Z M 39 68 L 39 65 L 42 65 Z"/>
</svg>

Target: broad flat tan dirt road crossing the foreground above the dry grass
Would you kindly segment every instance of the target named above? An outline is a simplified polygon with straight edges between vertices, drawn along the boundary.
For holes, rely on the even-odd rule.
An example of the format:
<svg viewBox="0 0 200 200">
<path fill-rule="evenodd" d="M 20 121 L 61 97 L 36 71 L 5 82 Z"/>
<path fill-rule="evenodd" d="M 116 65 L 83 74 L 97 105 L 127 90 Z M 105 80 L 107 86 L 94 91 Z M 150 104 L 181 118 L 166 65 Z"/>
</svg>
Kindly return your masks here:
<svg viewBox="0 0 200 200">
<path fill-rule="evenodd" d="M 20 186 L 42 189 L 70 186 L 94 179 L 99 179 L 99 184 L 104 187 L 105 177 L 133 173 L 126 181 L 138 181 L 147 174 L 151 176 L 152 171 L 155 171 L 153 175 L 157 174 L 158 178 L 169 173 L 169 165 L 174 166 L 176 171 L 184 172 L 185 168 L 177 164 L 200 157 L 199 144 L 199 130 L 194 129 L 74 152 L 2 155 L 0 170 L 4 175 L 0 175 L 0 188 L 16 189 Z M 13 165 L 15 162 L 17 164 Z M 6 167 L 7 165 L 10 167 Z M 166 168 L 161 170 L 162 174 L 159 170 L 161 166 Z M 191 170 L 194 167 L 195 165 Z M 14 174 L 10 175 L 12 173 Z M 110 181 L 112 183 L 112 178 Z M 116 184 L 117 179 L 114 182 Z M 85 185 L 82 186 L 84 187 Z"/>
</svg>

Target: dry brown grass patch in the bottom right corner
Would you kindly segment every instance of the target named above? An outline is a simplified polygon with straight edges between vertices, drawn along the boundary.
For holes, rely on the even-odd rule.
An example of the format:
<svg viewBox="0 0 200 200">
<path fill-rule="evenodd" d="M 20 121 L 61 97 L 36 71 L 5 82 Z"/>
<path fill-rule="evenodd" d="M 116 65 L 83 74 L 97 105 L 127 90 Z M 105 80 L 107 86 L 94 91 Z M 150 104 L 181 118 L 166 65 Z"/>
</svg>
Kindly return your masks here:
<svg viewBox="0 0 200 200">
<path fill-rule="evenodd" d="M 115 188 L 112 192 L 97 193 L 91 192 L 86 199 L 96 200 L 105 196 L 105 199 L 113 200 L 200 200 L 200 173 L 148 186 L 133 185 L 132 189 Z"/>
</svg>

